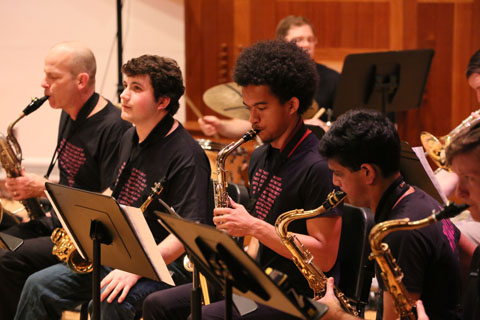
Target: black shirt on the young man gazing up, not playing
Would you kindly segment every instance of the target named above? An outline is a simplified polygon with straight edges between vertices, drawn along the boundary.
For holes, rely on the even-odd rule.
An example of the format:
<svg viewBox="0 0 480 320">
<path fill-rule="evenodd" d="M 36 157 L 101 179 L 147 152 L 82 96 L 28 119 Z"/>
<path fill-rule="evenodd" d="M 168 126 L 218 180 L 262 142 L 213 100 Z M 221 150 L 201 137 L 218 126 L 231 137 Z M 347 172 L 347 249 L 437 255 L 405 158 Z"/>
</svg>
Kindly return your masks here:
<svg viewBox="0 0 480 320">
<path fill-rule="evenodd" d="M 113 195 L 121 204 L 140 207 L 154 183 L 165 177 L 167 182 L 160 198 L 182 217 L 211 224 L 212 212 L 207 209 L 210 179 L 207 156 L 180 123 L 168 136 L 162 132 L 164 126 L 165 122 L 160 121 L 141 143 L 135 128 L 122 137 Z M 144 212 L 150 230 L 160 242 L 168 232 L 158 223 L 153 210 L 165 212 L 165 209 L 158 201 L 152 201 Z"/>
</svg>

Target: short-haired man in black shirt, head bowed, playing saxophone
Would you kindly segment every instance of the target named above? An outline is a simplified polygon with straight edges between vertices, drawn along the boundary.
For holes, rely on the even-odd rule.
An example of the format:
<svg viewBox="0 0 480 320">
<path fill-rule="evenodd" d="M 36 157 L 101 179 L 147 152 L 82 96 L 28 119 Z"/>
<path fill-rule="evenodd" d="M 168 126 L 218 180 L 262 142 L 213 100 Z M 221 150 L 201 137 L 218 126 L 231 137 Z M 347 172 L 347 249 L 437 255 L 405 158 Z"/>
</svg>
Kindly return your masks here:
<svg viewBox="0 0 480 320">
<path fill-rule="evenodd" d="M 440 209 L 432 197 L 403 180 L 397 131 L 377 112 L 345 113 L 321 140 L 320 153 L 328 159 L 333 183 L 347 193 L 347 201 L 370 208 L 376 223 L 401 218 L 420 220 L 431 215 L 432 210 Z M 407 289 L 407 297 L 402 300 L 413 304 L 421 298 L 435 319 L 458 317 L 460 237 L 459 230 L 449 220 L 442 220 L 421 229 L 392 232 L 383 239 L 404 275 L 399 281 Z M 399 297 L 394 300 L 394 296 L 384 290 L 379 269 L 376 265 L 382 289 L 377 319 L 396 319 L 395 302 Z M 327 317 L 349 317 L 338 312 L 335 304 L 329 306 Z"/>
</svg>

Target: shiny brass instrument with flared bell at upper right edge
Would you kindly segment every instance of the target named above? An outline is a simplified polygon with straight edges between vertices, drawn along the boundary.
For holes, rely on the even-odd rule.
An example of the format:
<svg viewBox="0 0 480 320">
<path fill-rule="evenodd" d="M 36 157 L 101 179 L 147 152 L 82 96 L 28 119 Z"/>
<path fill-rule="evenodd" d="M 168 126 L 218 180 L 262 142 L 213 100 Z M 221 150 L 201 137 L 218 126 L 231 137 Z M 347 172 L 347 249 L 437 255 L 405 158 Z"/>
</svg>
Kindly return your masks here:
<svg viewBox="0 0 480 320">
<path fill-rule="evenodd" d="M 422 142 L 425 151 L 438 168 L 450 171 L 447 166 L 447 159 L 445 157 L 445 150 L 460 131 L 475 125 L 480 121 L 480 110 L 475 111 L 473 114 L 464 119 L 458 126 L 443 137 L 437 138 L 433 134 L 423 131 L 420 134 L 420 141 Z"/>
</svg>

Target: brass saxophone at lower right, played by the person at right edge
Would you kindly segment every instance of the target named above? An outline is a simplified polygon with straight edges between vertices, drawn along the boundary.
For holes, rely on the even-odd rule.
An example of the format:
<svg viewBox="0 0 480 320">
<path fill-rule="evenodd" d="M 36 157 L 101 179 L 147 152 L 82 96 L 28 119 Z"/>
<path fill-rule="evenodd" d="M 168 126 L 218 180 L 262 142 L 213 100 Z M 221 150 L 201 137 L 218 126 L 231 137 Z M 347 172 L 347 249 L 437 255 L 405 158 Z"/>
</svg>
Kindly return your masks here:
<svg viewBox="0 0 480 320">
<path fill-rule="evenodd" d="M 442 219 L 456 216 L 468 208 L 466 204 L 454 203 L 445 206 L 440 212 L 433 212 L 427 218 L 409 222 L 409 218 L 387 220 L 375 225 L 370 231 L 369 240 L 372 253 L 370 260 L 375 259 L 381 270 L 381 276 L 385 289 L 392 295 L 400 319 L 416 319 L 415 304 L 408 297 L 408 292 L 402 283 L 403 272 L 392 256 L 388 244 L 382 242 L 388 234 L 400 230 L 413 230 L 426 227 Z"/>
</svg>

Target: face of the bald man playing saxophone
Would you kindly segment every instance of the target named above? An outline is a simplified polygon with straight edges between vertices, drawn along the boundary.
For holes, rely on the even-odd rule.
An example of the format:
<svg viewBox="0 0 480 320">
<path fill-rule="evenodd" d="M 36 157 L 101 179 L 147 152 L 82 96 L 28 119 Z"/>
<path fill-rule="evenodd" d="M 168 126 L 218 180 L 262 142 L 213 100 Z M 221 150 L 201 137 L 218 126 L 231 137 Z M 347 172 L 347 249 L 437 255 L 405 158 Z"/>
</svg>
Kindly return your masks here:
<svg viewBox="0 0 480 320">
<path fill-rule="evenodd" d="M 79 93 L 78 78 L 70 72 L 70 57 L 70 52 L 54 48 L 45 58 L 45 78 L 41 86 L 44 94 L 49 96 L 50 106 L 55 109 L 72 107 Z"/>
</svg>

